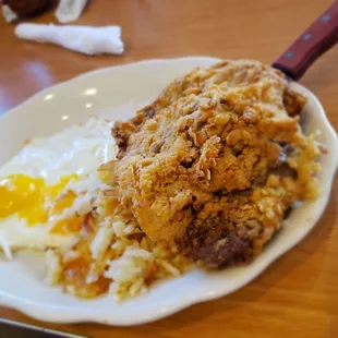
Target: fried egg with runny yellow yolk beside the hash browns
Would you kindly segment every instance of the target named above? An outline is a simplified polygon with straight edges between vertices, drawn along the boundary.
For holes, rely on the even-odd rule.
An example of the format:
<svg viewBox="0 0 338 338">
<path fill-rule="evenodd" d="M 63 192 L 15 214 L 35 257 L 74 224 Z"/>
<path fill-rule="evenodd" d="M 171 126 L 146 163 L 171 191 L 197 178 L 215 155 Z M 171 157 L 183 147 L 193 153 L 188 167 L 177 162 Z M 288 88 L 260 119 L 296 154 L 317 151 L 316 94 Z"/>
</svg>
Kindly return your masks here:
<svg viewBox="0 0 338 338">
<path fill-rule="evenodd" d="M 0 248 L 61 248 L 76 240 L 105 188 L 97 169 L 116 158 L 111 123 L 90 118 L 28 142 L 0 168 Z"/>
</svg>

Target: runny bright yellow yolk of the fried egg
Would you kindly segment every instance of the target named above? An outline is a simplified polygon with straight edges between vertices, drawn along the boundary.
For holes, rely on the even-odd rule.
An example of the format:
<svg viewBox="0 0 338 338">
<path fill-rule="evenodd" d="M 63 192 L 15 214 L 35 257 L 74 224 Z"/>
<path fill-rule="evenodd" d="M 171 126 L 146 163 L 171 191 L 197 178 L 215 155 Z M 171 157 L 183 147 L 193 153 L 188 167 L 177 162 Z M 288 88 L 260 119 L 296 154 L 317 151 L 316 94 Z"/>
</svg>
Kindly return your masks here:
<svg viewBox="0 0 338 338">
<path fill-rule="evenodd" d="M 71 180 L 77 179 L 76 174 L 70 174 L 62 177 L 57 184 L 47 185 L 44 178 L 21 173 L 8 176 L 0 181 L 0 218 L 17 214 L 17 217 L 24 218 L 28 226 L 47 222 L 49 216 L 59 215 L 72 206 L 76 194 L 72 191 L 67 191 L 64 194 L 62 192 Z M 68 220 L 62 222 L 62 227 L 56 225 L 52 228 L 53 232 L 62 228 L 60 232 L 64 233 Z M 73 217 L 69 222 L 70 231 L 77 230 L 79 221 L 76 227 Z"/>
</svg>

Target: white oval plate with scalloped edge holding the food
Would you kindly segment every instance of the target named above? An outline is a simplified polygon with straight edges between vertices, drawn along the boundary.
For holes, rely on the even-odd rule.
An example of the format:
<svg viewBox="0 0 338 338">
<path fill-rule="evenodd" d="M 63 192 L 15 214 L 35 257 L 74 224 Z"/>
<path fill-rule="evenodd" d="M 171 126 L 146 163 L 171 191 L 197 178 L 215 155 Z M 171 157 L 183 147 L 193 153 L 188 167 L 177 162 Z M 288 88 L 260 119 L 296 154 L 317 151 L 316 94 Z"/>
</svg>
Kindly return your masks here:
<svg viewBox="0 0 338 338">
<path fill-rule="evenodd" d="M 94 112 L 108 112 L 113 119 L 129 118 L 135 107 L 154 99 L 173 77 L 217 61 L 214 58 L 142 61 L 98 70 L 50 87 L 0 118 L 0 164 L 13 156 L 25 140 L 50 135 L 84 121 Z M 328 155 L 321 158 L 323 170 L 318 174 L 323 194 L 316 202 L 293 210 L 280 233 L 252 264 L 218 273 L 196 269 L 157 285 L 146 295 L 116 304 L 111 295 L 83 301 L 46 286 L 39 259 L 22 254 L 14 262 L 0 258 L 0 304 L 48 322 L 134 325 L 219 298 L 250 282 L 315 226 L 328 202 L 337 168 L 337 136 L 323 107 L 306 88 L 293 86 L 309 98 L 304 111 L 305 133 L 322 130 L 318 140 L 328 148 Z M 117 109 L 120 106 L 122 108 Z"/>
</svg>

